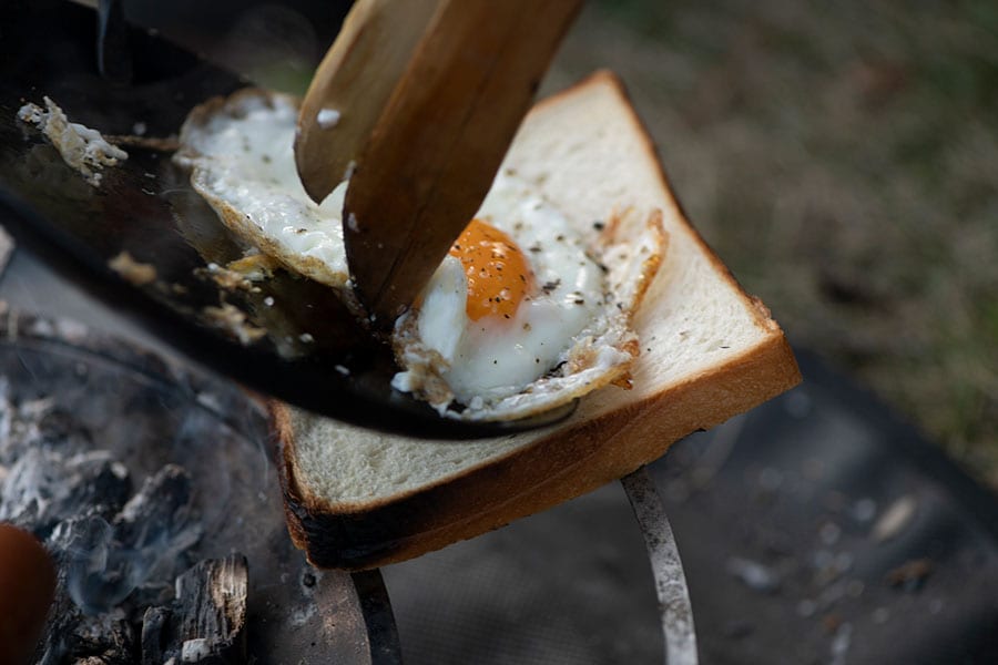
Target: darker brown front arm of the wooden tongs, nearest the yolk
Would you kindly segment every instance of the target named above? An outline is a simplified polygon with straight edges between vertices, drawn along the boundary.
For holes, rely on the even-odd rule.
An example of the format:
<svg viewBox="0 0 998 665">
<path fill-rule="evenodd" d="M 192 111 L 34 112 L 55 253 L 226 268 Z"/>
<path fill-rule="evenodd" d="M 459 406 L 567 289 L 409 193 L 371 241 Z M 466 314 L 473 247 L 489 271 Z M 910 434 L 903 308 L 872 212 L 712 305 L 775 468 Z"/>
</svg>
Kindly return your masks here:
<svg viewBox="0 0 998 665">
<path fill-rule="evenodd" d="M 394 317 L 478 209 L 581 0 L 441 0 L 347 190 L 360 299 Z"/>
</svg>

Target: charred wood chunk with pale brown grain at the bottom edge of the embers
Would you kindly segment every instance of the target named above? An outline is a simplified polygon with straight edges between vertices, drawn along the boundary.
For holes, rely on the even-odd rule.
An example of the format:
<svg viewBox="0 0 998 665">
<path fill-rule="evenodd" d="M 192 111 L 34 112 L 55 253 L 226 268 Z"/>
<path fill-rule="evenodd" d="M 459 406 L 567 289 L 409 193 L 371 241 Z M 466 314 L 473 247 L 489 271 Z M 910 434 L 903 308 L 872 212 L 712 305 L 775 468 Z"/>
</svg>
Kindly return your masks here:
<svg viewBox="0 0 998 665">
<path fill-rule="evenodd" d="M 142 663 L 246 661 L 248 564 L 242 554 L 206 559 L 176 579 L 171 607 L 146 611 Z"/>
</svg>

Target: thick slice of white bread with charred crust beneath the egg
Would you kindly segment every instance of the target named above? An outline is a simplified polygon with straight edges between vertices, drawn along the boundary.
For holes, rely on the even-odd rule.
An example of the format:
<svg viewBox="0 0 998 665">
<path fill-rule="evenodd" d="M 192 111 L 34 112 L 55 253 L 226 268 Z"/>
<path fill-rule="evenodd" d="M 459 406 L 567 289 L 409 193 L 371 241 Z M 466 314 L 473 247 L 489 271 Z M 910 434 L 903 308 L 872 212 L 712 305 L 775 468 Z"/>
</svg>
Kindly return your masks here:
<svg viewBox="0 0 998 665">
<path fill-rule="evenodd" d="M 381 434 L 273 402 L 291 534 L 319 567 L 403 561 L 544 510 L 801 380 L 768 310 L 683 217 L 613 74 L 539 103 L 503 167 L 580 225 L 611 211 L 630 209 L 635 224 L 662 212 L 669 250 L 634 321 L 633 389 L 602 388 L 558 426 L 465 442 Z"/>
</svg>

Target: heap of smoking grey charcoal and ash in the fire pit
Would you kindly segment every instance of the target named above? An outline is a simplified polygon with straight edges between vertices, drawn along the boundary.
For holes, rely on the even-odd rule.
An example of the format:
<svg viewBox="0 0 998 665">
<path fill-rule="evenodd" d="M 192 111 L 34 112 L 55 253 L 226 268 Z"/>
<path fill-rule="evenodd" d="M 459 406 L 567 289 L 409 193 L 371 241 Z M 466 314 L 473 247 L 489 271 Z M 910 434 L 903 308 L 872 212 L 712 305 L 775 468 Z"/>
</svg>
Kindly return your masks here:
<svg viewBox="0 0 998 665">
<path fill-rule="evenodd" d="M 0 521 L 42 539 L 59 570 L 39 662 L 245 659 L 247 562 L 197 560 L 191 474 L 136 478 L 52 398 L 0 382 Z"/>
</svg>

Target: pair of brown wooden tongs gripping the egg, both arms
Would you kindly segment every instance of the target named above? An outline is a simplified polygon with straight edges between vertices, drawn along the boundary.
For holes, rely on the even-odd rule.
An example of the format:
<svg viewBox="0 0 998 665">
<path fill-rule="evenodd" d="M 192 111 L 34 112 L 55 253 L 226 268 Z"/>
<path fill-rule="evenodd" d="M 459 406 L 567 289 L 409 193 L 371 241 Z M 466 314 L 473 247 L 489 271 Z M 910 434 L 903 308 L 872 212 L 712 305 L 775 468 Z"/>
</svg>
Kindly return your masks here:
<svg viewBox="0 0 998 665">
<path fill-rule="evenodd" d="M 295 151 L 313 197 L 353 171 L 344 236 L 373 318 L 390 325 L 478 209 L 580 4 L 361 0 L 352 10 L 306 95 Z"/>
</svg>

